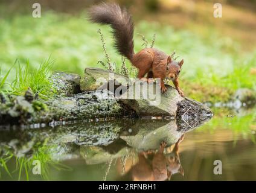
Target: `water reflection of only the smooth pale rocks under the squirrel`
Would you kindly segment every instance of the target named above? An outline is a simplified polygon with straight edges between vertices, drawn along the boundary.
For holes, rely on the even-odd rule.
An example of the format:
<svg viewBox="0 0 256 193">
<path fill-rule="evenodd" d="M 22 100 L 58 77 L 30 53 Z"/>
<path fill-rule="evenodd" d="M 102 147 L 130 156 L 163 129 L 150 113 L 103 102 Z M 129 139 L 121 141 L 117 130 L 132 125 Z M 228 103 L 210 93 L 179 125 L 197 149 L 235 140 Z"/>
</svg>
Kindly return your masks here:
<svg viewBox="0 0 256 193">
<path fill-rule="evenodd" d="M 104 147 L 83 146 L 81 153 L 86 163 L 105 163 L 118 157 L 134 155 L 134 152 L 158 150 L 162 141 L 167 142 L 167 147 L 170 147 L 181 138 L 182 134 L 199 126 L 193 125 L 193 127 L 186 130 L 185 128 L 179 129 L 174 120 L 145 119 L 137 120 L 132 125 L 126 122 L 125 125 L 127 125 L 126 130 L 120 133 L 121 140 L 117 139 Z M 129 132 L 127 133 L 127 131 Z"/>
</svg>

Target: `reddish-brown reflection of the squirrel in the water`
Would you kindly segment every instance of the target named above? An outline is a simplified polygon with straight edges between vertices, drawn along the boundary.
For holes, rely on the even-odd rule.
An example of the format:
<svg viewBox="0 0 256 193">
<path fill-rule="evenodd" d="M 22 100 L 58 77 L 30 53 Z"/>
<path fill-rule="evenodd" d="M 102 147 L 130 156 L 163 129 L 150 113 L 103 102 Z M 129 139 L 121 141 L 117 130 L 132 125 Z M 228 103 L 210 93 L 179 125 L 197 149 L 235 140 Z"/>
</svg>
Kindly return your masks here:
<svg viewBox="0 0 256 193">
<path fill-rule="evenodd" d="M 174 145 L 173 150 L 164 154 L 166 142 L 162 142 L 159 150 L 154 153 L 153 151 L 142 151 L 138 154 L 139 160 L 136 165 L 133 165 L 130 174 L 132 174 L 132 180 L 135 181 L 147 181 L 147 180 L 170 180 L 171 175 L 180 173 L 184 176 L 184 170 L 182 169 L 181 162 L 179 160 L 179 144 L 184 139 L 184 134 Z"/>
</svg>

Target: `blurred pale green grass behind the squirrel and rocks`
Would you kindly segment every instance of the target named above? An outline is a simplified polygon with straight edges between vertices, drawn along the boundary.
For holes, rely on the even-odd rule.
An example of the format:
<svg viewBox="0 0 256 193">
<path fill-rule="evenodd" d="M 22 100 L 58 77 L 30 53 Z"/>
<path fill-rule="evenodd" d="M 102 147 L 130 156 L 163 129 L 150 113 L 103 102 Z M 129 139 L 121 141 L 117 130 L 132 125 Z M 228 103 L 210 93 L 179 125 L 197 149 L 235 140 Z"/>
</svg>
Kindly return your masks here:
<svg viewBox="0 0 256 193">
<path fill-rule="evenodd" d="M 8 74 L 16 58 L 21 63 L 30 61 L 31 65 L 28 67 L 21 65 L 22 71 L 25 71 L 25 68 L 28 68 L 28 71 L 36 68 L 40 70 L 41 67 L 37 64 L 49 55 L 55 60 L 52 71 L 76 72 L 82 75 L 86 67 L 102 67 L 98 61 L 104 63 L 108 61 L 102 49 L 101 37 L 97 33 L 98 28 L 104 35 L 110 63 L 115 62 L 118 69 L 121 69 L 121 56 L 113 47 L 110 28 L 91 24 L 86 21 L 85 16 L 85 13 L 71 16 L 46 11 L 40 19 L 35 19 L 28 14 L 0 19 L 2 74 Z M 174 30 L 168 25 L 156 22 L 135 23 L 135 51 L 139 51 L 145 45 L 140 34 L 143 34 L 147 40 L 152 40 L 153 35 L 156 34 L 155 48 L 167 54 L 176 50 L 178 60 L 184 59 L 181 86 L 187 96 L 200 101 L 225 101 L 239 87 L 255 89 L 256 76 L 250 74 L 250 71 L 255 68 L 256 51 L 243 53 L 238 42 L 230 37 L 222 37 L 211 27 L 209 27 L 211 30 L 205 32 L 208 36 L 200 37 L 199 34 L 191 31 Z M 126 65 L 130 69 L 130 62 L 127 60 Z M 2 80 L 11 83 L 15 78 L 16 72 L 13 68 L 7 79 Z M 38 91 L 43 89 L 37 85 L 39 80 L 35 81 L 36 83 L 31 83 L 33 85 L 30 86 L 42 97 L 46 97 L 49 90 L 43 87 L 45 91 Z M 43 81 L 45 81 L 44 78 Z M 21 93 L 26 86 L 28 86 L 27 83 L 21 87 L 17 83 L 17 93 Z M 198 89 L 197 92 L 193 90 L 195 86 Z M 212 90 L 217 91 L 212 92 Z"/>
</svg>

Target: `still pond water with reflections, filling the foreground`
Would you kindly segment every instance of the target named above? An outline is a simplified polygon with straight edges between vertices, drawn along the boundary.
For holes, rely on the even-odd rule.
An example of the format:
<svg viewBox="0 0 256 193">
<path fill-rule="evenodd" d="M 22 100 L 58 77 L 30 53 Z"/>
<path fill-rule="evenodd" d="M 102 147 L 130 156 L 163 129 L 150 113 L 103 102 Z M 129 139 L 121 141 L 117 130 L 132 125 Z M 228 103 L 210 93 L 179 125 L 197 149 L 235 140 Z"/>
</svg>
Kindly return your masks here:
<svg viewBox="0 0 256 193">
<path fill-rule="evenodd" d="M 256 180 L 255 109 L 214 110 L 201 124 L 122 119 L 2 127 L 0 180 Z M 33 174 L 34 160 L 41 175 Z M 214 160 L 222 174 L 214 174 Z"/>
</svg>

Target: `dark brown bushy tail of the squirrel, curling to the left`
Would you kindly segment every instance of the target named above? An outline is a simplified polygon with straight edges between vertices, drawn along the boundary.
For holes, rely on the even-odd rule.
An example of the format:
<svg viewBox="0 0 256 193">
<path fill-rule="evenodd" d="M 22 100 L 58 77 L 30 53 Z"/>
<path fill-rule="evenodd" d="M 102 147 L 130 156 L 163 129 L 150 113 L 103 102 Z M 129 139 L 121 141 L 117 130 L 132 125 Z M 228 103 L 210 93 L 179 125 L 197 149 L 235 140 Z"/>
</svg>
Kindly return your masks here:
<svg viewBox="0 0 256 193">
<path fill-rule="evenodd" d="M 89 19 L 98 24 L 110 25 L 115 37 L 115 48 L 127 59 L 132 59 L 134 24 L 125 8 L 121 9 L 117 4 L 94 5 L 89 9 Z"/>
</svg>

